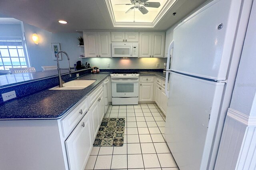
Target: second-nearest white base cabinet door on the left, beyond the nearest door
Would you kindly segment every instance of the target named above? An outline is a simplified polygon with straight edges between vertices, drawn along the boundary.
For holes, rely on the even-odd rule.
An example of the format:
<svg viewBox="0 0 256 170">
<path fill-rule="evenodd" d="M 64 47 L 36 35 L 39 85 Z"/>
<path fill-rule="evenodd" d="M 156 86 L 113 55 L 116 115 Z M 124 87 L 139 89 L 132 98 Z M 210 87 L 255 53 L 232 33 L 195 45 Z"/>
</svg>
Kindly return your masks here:
<svg viewBox="0 0 256 170">
<path fill-rule="evenodd" d="M 91 122 L 92 122 L 92 137 L 93 139 L 96 138 L 98 133 L 98 129 L 100 127 L 100 118 L 99 118 L 99 107 L 98 107 L 98 99 L 94 101 L 92 106 L 89 108 L 90 115 L 91 115 Z"/>
</svg>

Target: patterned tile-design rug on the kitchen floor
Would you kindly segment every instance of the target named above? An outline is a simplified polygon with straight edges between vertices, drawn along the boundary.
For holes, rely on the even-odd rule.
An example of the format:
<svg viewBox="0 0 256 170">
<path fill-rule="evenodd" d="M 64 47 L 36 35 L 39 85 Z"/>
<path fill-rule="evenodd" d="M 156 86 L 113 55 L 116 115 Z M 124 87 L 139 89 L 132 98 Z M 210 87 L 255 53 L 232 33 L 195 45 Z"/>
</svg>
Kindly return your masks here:
<svg viewBox="0 0 256 170">
<path fill-rule="evenodd" d="M 103 118 L 94 147 L 122 147 L 124 145 L 125 118 Z"/>
</svg>

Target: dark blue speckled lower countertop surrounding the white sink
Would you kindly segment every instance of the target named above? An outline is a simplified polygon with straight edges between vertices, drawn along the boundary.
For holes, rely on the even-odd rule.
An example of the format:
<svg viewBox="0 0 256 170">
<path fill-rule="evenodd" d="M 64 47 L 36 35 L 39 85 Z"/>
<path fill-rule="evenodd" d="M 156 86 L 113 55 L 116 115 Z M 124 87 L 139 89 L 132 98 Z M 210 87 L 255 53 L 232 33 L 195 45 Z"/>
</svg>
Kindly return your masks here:
<svg viewBox="0 0 256 170">
<path fill-rule="evenodd" d="M 43 90 L 0 105 L 0 119 L 59 119 L 87 96 L 109 74 L 87 74 L 79 80 L 96 80 L 82 90 Z"/>
</svg>

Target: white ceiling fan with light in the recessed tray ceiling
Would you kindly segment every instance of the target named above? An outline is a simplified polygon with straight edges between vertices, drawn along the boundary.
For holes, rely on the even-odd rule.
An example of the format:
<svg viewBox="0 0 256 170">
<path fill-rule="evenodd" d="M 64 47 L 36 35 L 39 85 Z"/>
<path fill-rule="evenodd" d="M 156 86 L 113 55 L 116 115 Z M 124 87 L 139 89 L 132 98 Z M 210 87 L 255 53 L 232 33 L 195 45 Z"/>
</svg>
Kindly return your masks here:
<svg viewBox="0 0 256 170">
<path fill-rule="evenodd" d="M 131 7 L 128 11 L 125 13 L 131 12 L 134 8 L 140 10 L 142 14 L 147 14 L 148 10 L 145 7 L 149 8 L 159 8 L 160 3 L 159 2 L 147 2 L 148 0 L 130 0 L 131 4 L 115 4 L 115 5 L 134 5 Z"/>
</svg>

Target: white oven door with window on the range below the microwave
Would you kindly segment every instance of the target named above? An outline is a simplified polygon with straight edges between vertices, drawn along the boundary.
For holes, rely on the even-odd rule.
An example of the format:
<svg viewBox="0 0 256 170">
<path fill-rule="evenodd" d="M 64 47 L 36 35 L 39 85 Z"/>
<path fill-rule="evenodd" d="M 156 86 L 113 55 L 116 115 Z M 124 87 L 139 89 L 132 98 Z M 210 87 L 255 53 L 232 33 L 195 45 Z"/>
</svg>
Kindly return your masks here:
<svg viewBox="0 0 256 170">
<path fill-rule="evenodd" d="M 111 79 L 112 97 L 138 97 L 138 79 Z"/>
</svg>

